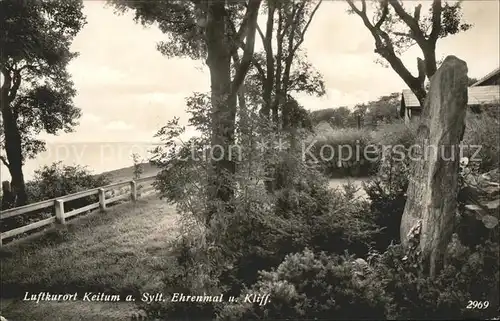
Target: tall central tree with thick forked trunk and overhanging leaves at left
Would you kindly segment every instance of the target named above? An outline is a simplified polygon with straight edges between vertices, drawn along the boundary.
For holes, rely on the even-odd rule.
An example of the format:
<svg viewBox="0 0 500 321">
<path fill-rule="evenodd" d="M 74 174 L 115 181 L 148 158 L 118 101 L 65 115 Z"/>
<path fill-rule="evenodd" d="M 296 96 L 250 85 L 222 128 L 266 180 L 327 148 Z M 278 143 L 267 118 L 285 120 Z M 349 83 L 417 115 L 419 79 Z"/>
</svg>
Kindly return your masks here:
<svg viewBox="0 0 500 321">
<path fill-rule="evenodd" d="M 237 95 L 254 53 L 257 17 L 261 0 L 240 1 L 127 1 L 112 0 L 117 9 L 135 12 L 143 24 L 157 23 L 167 35 L 158 45 L 166 56 L 205 58 L 211 84 L 211 145 L 214 148 L 209 195 L 227 211 L 234 196 L 236 165 L 229 148 L 235 141 Z M 234 54 L 243 48 L 238 68 L 232 70 Z M 215 146 L 219 147 L 215 149 Z M 223 153 L 223 155 L 220 155 Z M 207 215 L 210 222 L 211 213 Z"/>
</svg>

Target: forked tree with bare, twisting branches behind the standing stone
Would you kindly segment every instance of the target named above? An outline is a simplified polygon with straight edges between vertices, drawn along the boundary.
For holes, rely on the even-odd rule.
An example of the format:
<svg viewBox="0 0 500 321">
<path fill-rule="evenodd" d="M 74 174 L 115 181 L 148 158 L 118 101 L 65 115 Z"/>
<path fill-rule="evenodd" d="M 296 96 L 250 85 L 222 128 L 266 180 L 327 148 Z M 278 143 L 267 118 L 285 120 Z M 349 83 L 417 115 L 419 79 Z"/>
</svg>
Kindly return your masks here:
<svg viewBox="0 0 500 321">
<path fill-rule="evenodd" d="M 433 0 L 428 13 L 422 13 L 417 4 L 413 13 L 402 1 L 381 0 L 374 2 L 374 10 L 367 8 L 366 0 L 357 6 L 346 0 L 352 13 L 357 14 L 375 40 L 375 52 L 403 79 L 423 106 L 426 96 L 425 79 L 437 70 L 436 44 L 438 39 L 468 30 L 471 25 L 462 22 L 461 2 Z M 413 2 L 412 2 L 413 3 Z M 401 55 L 417 45 L 423 59 L 417 59 L 418 75 L 413 75 L 401 60 Z"/>
</svg>

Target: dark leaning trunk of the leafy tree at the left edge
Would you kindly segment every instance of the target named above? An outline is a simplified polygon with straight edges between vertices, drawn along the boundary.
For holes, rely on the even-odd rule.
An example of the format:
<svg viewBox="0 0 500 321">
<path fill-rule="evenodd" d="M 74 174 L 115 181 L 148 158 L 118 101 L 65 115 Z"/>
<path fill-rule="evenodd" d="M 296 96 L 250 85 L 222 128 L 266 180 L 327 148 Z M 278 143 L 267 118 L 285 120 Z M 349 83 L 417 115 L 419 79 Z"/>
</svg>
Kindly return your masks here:
<svg viewBox="0 0 500 321">
<path fill-rule="evenodd" d="M 10 107 L 8 90 L 5 88 L 2 88 L 0 103 L 5 135 L 5 152 L 9 163 L 8 169 L 12 177 L 12 192 L 16 196 L 16 206 L 23 206 L 28 203 L 28 196 L 24 183 L 21 135 Z"/>
</svg>

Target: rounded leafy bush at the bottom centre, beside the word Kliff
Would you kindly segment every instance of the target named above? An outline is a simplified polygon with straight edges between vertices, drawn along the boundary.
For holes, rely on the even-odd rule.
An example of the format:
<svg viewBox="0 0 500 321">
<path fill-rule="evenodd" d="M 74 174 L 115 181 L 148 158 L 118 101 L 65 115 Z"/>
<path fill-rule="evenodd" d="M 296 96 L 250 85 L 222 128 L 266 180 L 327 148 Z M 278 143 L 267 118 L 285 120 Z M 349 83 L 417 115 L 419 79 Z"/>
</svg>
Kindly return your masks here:
<svg viewBox="0 0 500 321">
<path fill-rule="evenodd" d="M 276 270 L 261 272 L 259 281 L 238 303 L 225 305 L 217 320 L 385 319 L 389 299 L 370 278 L 352 258 L 306 249 L 288 255 Z M 252 303 L 246 295 L 269 295 L 270 301 Z"/>
</svg>

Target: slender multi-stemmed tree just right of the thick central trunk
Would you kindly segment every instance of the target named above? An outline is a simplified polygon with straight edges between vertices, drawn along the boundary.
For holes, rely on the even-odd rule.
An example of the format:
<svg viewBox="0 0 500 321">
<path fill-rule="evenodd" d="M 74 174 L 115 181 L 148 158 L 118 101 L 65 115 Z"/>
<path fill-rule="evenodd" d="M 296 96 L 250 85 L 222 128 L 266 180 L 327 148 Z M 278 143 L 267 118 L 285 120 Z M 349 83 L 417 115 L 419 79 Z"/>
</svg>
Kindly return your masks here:
<svg viewBox="0 0 500 321">
<path fill-rule="evenodd" d="M 295 146 L 297 127 L 309 125 L 308 114 L 292 93 L 323 95 L 323 79 L 307 61 L 301 46 L 322 1 L 266 1 L 265 29 L 257 26 L 263 52 L 254 56 L 254 79 L 262 87 L 261 115 L 278 133 L 287 132 Z M 279 188 L 272 164 L 266 169 L 266 189 Z M 273 177 L 274 176 L 274 177 Z"/>
</svg>

